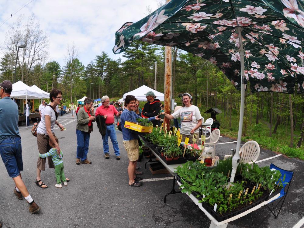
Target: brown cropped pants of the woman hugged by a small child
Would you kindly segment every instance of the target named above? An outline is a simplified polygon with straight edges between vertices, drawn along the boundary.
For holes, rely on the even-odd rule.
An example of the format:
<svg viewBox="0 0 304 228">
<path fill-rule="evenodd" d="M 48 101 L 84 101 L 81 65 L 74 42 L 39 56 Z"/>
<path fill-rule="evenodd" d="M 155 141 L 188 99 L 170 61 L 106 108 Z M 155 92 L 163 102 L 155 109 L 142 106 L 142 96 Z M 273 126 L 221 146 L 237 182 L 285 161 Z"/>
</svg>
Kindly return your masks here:
<svg viewBox="0 0 304 228">
<path fill-rule="evenodd" d="M 55 134 L 53 133 L 53 135 L 55 136 Z M 47 152 L 49 152 L 49 150 L 52 148 L 49 145 L 49 136 L 45 135 L 45 134 L 37 134 L 37 145 L 38 145 L 38 150 L 40 154 L 45 154 Z M 46 158 L 41 158 L 38 157 L 38 161 L 37 161 L 37 168 L 44 171 L 45 170 L 45 160 Z M 54 163 L 52 161 L 51 157 L 47 158 L 47 162 L 49 164 L 49 168 L 55 168 Z"/>
</svg>

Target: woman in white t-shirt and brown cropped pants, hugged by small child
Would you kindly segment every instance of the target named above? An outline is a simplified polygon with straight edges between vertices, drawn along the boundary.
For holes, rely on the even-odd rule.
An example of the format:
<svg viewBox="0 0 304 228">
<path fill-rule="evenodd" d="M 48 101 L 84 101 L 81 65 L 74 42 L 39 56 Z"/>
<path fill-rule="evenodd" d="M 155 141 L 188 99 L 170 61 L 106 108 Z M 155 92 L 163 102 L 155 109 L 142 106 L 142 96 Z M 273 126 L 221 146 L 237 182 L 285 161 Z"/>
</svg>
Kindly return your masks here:
<svg viewBox="0 0 304 228">
<path fill-rule="evenodd" d="M 57 121 L 58 114 L 55 110 L 56 106 L 61 103 L 62 92 L 58 89 L 52 89 L 52 91 L 50 92 L 50 100 L 51 102 L 43 109 L 43 113 L 41 114 L 41 121 L 37 128 L 37 146 L 40 154 L 45 154 L 51 149 L 49 145 L 49 139 L 52 140 L 52 143 L 54 143 L 57 153 L 60 154 L 60 147 L 54 138 L 54 126 L 56 124 L 61 130 L 64 129 L 64 127 Z M 41 171 L 45 170 L 45 161 L 46 158 L 38 157 L 37 178 L 35 183 L 40 188 L 47 188 L 47 185 L 43 183 L 40 176 Z M 55 166 L 53 164 L 52 159 L 48 157 L 47 161 L 49 164 L 49 168 L 54 169 Z M 67 179 L 67 181 L 70 180 Z"/>
</svg>

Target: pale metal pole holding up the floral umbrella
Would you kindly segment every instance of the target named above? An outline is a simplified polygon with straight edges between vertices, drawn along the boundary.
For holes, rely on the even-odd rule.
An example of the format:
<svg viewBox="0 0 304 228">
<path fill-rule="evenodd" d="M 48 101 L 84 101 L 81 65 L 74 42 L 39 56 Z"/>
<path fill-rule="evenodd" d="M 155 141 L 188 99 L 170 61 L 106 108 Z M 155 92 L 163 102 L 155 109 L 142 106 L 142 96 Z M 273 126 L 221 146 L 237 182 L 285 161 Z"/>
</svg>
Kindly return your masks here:
<svg viewBox="0 0 304 228">
<path fill-rule="evenodd" d="M 241 28 L 238 27 L 238 34 L 239 34 L 239 41 L 240 41 L 240 62 L 241 62 L 241 105 L 240 105 L 240 121 L 239 121 L 239 132 L 237 135 L 237 148 L 235 154 L 232 158 L 232 171 L 231 171 L 231 178 L 230 183 L 233 183 L 235 174 L 237 172 L 237 166 L 240 163 L 240 145 L 241 145 L 241 137 L 242 137 L 242 130 L 243 130 L 243 118 L 244 118 L 244 101 L 245 101 L 245 81 L 244 81 L 244 48 L 243 48 L 243 41 L 242 41 L 242 33 Z"/>
</svg>

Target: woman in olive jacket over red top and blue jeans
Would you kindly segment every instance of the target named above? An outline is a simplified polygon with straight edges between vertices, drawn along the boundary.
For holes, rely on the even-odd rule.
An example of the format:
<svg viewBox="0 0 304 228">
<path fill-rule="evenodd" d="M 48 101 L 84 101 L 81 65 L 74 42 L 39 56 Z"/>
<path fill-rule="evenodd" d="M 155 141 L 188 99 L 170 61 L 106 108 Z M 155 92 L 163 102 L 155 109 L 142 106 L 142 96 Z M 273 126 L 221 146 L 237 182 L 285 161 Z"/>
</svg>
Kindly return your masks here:
<svg viewBox="0 0 304 228">
<path fill-rule="evenodd" d="M 89 150 L 90 133 L 93 130 L 93 122 L 95 122 L 95 113 L 93 100 L 85 98 L 84 106 L 78 110 L 78 119 L 76 125 L 77 135 L 77 151 L 76 164 L 91 164 L 87 159 Z"/>
</svg>

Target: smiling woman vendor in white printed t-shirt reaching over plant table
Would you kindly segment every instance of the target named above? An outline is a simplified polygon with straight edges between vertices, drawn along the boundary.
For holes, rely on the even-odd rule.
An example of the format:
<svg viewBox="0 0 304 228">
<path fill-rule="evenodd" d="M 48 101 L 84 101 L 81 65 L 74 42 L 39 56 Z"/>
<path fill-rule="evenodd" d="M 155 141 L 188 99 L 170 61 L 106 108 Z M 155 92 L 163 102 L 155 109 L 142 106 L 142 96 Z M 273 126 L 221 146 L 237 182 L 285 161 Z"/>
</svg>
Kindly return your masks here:
<svg viewBox="0 0 304 228">
<path fill-rule="evenodd" d="M 188 93 L 182 95 L 182 108 L 173 112 L 171 115 L 164 113 L 168 119 L 181 118 L 181 141 L 185 142 L 185 138 L 189 138 L 189 143 L 192 144 L 193 135 L 196 134 L 196 141 L 199 142 L 199 127 L 202 125 L 202 115 L 199 108 L 192 105 L 192 96 Z"/>
</svg>

